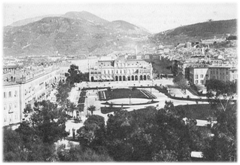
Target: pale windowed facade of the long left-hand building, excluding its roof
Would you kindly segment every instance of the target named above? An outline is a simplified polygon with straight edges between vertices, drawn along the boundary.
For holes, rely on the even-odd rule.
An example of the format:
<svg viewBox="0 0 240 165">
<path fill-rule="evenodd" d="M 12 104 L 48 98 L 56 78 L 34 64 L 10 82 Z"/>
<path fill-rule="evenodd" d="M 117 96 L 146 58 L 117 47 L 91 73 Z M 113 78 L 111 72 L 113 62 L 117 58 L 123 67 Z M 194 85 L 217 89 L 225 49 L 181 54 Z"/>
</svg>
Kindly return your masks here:
<svg viewBox="0 0 240 165">
<path fill-rule="evenodd" d="M 2 85 L 1 126 L 21 122 L 26 105 L 46 99 L 53 89 L 52 85 L 57 85 L 61 79 L 62 72 L 58 68 L 22 84 Z"/>
</svg>

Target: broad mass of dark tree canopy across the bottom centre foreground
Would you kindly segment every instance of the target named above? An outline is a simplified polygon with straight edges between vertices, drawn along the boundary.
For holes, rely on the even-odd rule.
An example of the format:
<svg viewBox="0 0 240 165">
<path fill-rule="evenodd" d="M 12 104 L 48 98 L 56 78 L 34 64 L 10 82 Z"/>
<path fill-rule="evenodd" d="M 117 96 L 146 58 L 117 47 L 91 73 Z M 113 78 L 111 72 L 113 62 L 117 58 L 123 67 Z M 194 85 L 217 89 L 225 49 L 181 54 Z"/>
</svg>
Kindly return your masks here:
<svg viewBox="0 0 240 165">
<path fill-rule="evenodd" d="M 88 128 L 86 122 L 78 134 L 87 136 L 93 130 L 90 137 L 94 140 L 91 145 L 89 140 L 80 143 L 97 152 L 103 149 L 118 163 L 191 162 L 191 151 L 202 149 L 204 141 L 194 120 L 185 123 L 180 114 L 171 102 L 159 111 L 153 107 L 116 111 L 109 115 L 105 129 L 91 125 Z M 96 130 L 101 132 L 95 133 Z M 96 139 L 101 139 L 101 143 L 94 143 Z"/>
</svg>

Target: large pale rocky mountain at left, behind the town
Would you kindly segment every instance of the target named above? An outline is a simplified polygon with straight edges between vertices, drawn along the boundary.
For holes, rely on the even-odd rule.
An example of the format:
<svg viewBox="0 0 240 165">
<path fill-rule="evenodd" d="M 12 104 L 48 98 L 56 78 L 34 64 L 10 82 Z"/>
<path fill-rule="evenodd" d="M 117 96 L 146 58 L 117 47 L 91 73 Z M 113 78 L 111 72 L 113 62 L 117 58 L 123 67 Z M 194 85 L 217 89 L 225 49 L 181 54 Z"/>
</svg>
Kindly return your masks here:
<svg viewBox="0 0 240 165">
<path fill-rule="evenodd" d="M 130 23 L 121 26 L 88 12 L 45 17 L 2 31 L 3 55 L 106 54 L 133 50 L 149 33 Z"/>
</svg>

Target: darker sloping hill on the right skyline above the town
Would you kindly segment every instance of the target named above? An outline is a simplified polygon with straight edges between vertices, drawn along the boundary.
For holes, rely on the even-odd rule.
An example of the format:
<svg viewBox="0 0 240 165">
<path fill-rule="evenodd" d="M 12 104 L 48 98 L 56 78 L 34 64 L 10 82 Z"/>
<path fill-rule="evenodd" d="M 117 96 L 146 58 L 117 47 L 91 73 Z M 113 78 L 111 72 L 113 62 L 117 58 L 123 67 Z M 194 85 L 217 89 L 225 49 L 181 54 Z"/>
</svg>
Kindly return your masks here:
<svg viewBox="0 0 240 165">
<path fill-rule="evenodd" d="M 237 19 L 208 21 L 160 32 L 155 34 L 151 41 L 168 45 L 214 37 L 221 38 L 226 37 L 226 34 L 238 34 L 238 26 Z"/>
</svg>

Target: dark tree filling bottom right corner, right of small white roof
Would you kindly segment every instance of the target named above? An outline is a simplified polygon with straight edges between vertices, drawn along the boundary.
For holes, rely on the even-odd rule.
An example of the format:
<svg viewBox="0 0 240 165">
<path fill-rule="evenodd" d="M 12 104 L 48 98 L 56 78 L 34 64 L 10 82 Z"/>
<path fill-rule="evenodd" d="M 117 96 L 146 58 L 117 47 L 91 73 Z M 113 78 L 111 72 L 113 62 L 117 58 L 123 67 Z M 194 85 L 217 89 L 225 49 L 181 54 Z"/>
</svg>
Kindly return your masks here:
<svg viewBox="0 0 240 165">
<path fill-rule="evenodd" d="M 239 104 L 230 104 L 225 110 L 218 106 L 217 124 L 212 127 L 214 137 L 203 151 L 206 162 L 237 163 L 239 159 Z"/>
</svg>

